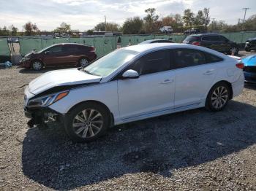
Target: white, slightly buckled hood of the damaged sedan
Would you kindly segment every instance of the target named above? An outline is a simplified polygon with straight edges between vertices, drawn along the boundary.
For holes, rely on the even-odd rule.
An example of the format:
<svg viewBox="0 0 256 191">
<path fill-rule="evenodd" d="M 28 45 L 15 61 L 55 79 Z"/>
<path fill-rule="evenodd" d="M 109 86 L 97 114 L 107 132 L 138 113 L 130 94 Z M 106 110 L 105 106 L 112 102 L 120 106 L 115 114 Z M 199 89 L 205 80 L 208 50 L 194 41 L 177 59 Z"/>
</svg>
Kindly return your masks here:
<svg viewBox="0 0 256 191">
<path fill-rule="evenodd" d="M 49 71 L 29 83 L 29 92 L 37 95 L 52 87 L 99 82 L 102 77 L 87 74 L 78 69 Z"/>
</svg>

